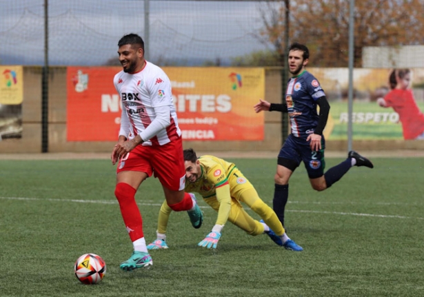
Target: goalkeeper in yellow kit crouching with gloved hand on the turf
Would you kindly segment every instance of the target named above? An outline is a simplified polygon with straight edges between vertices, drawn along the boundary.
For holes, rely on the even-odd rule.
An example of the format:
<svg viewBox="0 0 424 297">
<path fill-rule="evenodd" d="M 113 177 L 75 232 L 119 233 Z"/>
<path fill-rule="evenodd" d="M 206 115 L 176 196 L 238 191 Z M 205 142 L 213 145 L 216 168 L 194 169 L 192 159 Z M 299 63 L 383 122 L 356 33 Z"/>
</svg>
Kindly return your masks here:
<svg viewBox="0 0 424 297">
<path fill-rule="evenodd" d="M 285 249 L 301 252 L 302 247 L 294 243 L 287 234 L 274 210 L 259 198 L 253 185 L 237 169 L 234 163 L 216 156 L 204 155 L 197 158 L 194 150 L 184 150 L 185 192 L 197 192 L 203 200 L 218 212 L 212 232 L 198 244 L 208 249 L 216 249 L 222 229 L 230 221 L 246 233 L 256 236 L 267 234 Z M 192 194 L 194 196 L 194 194 Z M 262 220 L 256 221 L 243 209 L 241 202 L 248 205 Z M 166 227 L 172 209 L 166 201 L 159 211 L 157 240 L 148 249 L 168 249 Z M 201 227 L 201 224 L 193 226 Z"/>
</svg>

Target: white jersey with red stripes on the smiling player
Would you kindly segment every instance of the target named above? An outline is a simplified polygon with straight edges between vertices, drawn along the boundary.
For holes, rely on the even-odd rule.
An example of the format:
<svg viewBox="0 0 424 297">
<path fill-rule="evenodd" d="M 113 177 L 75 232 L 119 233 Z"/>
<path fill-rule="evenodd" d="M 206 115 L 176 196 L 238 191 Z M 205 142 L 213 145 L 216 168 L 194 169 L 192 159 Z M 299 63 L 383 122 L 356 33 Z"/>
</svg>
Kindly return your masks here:
<svg viewBox="0 0 424 297">
<path fill-rule="evenodd" d="M 157 110 L 168 105 L 170 125 L 152 139 L 145 139 L 143 145 L 165 145 L 181 136 L 172 102 L 171 82 L 161 68 L 146 61 L 140 72 L 121 71 L 114 76 L 113 82 L 122 103 L 119 135 L 133 139 L 152 123 Z"/>
</svg>

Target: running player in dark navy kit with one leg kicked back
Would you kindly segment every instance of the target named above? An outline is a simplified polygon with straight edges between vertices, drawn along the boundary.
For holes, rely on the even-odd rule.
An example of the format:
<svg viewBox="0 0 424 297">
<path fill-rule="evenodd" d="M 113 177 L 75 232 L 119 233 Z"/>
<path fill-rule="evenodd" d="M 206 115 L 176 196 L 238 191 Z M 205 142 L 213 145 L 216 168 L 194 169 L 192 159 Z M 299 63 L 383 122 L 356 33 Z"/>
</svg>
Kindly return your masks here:
<svg viewBox="0 0 424 297">
<path fill-rule="evenodd" d="M 289 179 L 296 167 L 303 161 L 314 190 L 322 191 L 330 187 L 352 166 L 374 167 L 371 161 L 354 151 L 347 159 L 324 173 L 325 139 L 323 130 L 330 112 L 325 92 L 319 81 L 305 70 L 309 61 L 309 50 L 301 43 L 293 43 L 289 48 L 288 65 L 292 74 L 287 84 L 285 104 L 269 103 L 260 100 L 254 105 L 255 112 L 262 110 L 287 112 L 290 117 L 291 133 L 281 147 L 278 165 L 274 176 L 274 212 L 284 225 L 284 209 L 287 203 Z M 319 106 L 319 113 L 317 110 Z"/>
</svg>

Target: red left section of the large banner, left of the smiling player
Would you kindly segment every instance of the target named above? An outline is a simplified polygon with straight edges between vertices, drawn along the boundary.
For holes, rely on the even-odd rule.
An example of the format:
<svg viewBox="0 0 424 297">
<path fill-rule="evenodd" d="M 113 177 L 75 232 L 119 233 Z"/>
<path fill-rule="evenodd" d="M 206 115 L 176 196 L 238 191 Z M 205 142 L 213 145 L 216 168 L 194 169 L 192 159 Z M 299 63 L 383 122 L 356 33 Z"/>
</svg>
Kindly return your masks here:
<svg viewBox="0 0 424 297">
<path fill-rule="evenodd" d="M 121 101 L 113 77 L 121 67 L 68 67 L 68 141 L 117 141 Z"/>
</svg>

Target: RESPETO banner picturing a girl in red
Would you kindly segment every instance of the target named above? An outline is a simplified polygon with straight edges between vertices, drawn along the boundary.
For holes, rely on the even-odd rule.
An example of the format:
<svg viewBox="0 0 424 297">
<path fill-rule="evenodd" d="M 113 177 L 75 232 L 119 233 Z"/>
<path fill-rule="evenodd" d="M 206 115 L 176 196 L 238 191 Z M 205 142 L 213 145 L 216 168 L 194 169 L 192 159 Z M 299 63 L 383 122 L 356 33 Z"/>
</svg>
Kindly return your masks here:
<svg viewBox="0 0 424 297">
<path fill-rule="evenodd" d="M 328 140 L 347 139 L 347 68 L 308 68 L 321 83 L 330 101 L 330 116 L 324 134 Z M 392 69 L 354 70 L 352 127 L 354 140 L 424 139 L 424 69 L 410 69 L 409 84 L 404 77 L 392 95 L 389 79 Z M 403 70 L 396 69 L 402 74 Z M 396 77 L 394 77 L 396 81 Z M 398 77 L 398 81 L 402 81 Z M 396 88 L 396 86 L 395 86 Z M 385 99 L 383 107 L 377 102 Z"/>
</svg>

